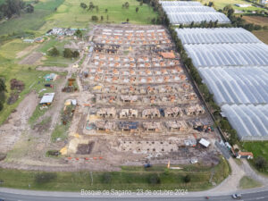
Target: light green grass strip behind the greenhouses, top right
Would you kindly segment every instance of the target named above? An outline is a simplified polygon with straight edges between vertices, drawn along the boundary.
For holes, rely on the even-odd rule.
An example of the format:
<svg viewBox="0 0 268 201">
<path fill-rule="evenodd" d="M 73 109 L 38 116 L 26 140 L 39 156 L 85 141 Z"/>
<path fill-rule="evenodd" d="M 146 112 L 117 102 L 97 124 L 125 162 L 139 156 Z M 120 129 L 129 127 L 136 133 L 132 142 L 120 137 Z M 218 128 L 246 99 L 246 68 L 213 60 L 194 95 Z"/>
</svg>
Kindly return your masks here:
<svg viewBox="0 0 268 201">
<path fill-rule="evenodd" d="M 209 2 L 211 2 L 211 0 L 201 0 L 200 2 L 201 2 L 201 4 L 205 4 L 205 3 L 208 4 Z M 265 11 L 264 8 L 258 8 L 258 7 L 255 7 L 255 6 L 250 6 L 250 7 L 247 7 L 247 8 L 241 8 L 241 7 L 238 7 L 238 6 L 235 5 L 235 4 L 252 4 L 252 3 L 249 3 L 249 2 L 243 1 L 243 0 L 214 0 L 213 2 L 215 4 L 216 9 L 222 9 L 226 5 L 230 4 L 230 5 L 232 5 L 233 9 L 239 10 L 239 11 L 243 11 L 243 10 L 245 10 L 245 11 L 257 11 L 257 10 Z"/>
</svg>

